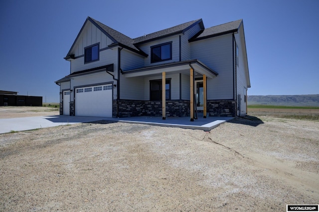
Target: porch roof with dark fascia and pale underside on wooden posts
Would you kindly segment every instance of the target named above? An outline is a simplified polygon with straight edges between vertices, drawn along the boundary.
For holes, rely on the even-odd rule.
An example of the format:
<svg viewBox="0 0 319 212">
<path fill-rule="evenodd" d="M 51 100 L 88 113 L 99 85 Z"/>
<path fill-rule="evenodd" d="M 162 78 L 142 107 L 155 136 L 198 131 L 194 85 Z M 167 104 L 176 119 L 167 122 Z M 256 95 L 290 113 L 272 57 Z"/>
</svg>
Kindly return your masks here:
<svg viewBox="0 0 319 212">
<path fill-rule="evenodd" d="M 161 75 L 162 72 L 166 73 L 182 73 L 189 75 L 189 69 L 193 68 L 195 73 L 199 73 L 201 75 L 206 75 L 207 78 L 214 78 L 218 75 L 217 72 L 207 67 L 202 62 L 197 59 L 187 60 L 181 62 L 172 62 L 161 65 L 149 66 L 140 69 L 133 69 L 123 71 L 125 77 L 142 77 L 142 76 L 157 76 Z"/>
</svg>

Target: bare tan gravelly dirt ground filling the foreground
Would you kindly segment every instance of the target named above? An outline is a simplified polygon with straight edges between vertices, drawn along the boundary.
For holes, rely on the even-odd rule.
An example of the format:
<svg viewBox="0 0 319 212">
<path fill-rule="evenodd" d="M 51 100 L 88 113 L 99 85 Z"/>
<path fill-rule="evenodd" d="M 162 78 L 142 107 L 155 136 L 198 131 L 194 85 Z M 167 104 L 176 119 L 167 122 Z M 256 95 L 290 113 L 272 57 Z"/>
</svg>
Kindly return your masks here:
<svg viewBox="0 0 319 212">
<path fill-rule="evenodd" d="M 319 204 L 319 122 L 249 118 L 210 132 L 100 121 L 0 134 L 0 211 Z"/>
</svg>

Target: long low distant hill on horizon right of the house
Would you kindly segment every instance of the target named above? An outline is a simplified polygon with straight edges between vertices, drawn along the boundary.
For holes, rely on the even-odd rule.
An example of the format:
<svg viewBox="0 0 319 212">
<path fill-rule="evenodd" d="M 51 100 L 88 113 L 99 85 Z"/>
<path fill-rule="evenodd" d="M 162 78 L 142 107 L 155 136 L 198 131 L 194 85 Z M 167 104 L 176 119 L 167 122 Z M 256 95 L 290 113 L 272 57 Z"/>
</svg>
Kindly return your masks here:
<svg viewBox="0 0 319 212">
<path fill-rule="evenodd" d="M 319 94 L 248 96 L 248 105 L 319 106 Z"/>
</svg>

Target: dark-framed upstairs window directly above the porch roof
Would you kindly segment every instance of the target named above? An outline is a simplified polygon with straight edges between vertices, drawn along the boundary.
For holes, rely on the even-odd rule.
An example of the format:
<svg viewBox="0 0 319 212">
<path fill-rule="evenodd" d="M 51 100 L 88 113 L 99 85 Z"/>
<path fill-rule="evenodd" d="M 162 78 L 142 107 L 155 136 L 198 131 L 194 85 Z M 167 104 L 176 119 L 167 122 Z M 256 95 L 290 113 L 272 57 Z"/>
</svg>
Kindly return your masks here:
<svg viewBox="0 0 319 212">
<path fill-rule="evenodd" d="M 167 42 L 151 46 L 151 63 L 171 60 L 171 43 Z"/>
</svg>

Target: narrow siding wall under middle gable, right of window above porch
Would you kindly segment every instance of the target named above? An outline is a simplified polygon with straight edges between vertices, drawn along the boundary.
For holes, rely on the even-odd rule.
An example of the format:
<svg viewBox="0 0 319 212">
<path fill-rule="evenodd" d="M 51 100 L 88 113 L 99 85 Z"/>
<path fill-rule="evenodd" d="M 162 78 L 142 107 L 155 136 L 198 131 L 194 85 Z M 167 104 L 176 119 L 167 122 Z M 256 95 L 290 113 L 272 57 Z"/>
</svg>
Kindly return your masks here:
<svg viewBox="0 0 319 212">
<path fill-rule="evenodd" d="M 192 59 L 190 54 L 190 44 L 188 43 L 188 40 L 199 31 L 200 26 L 199 24 L 196 24 L 195 26 L 188 29 L 183 35 L 181 35 L 181 61 Z"/>
</svg>

